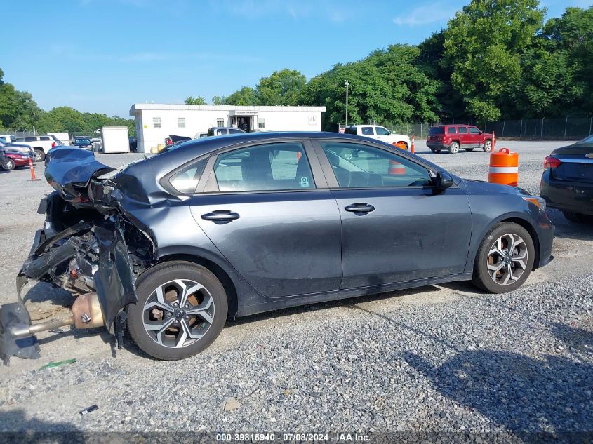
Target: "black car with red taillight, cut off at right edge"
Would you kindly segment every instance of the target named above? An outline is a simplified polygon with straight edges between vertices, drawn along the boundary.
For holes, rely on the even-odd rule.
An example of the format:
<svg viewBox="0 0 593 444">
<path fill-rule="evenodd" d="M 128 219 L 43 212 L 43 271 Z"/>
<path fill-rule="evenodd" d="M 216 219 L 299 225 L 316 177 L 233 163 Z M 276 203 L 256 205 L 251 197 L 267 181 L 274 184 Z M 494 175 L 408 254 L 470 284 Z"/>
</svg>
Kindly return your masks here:
<svg viewBox="0 0 593 444">
<path fill-rule="evenodd" d="M 571 222 L 593 223 L 593 135 L 545 158 L 540 196 Z"/>
</svg>

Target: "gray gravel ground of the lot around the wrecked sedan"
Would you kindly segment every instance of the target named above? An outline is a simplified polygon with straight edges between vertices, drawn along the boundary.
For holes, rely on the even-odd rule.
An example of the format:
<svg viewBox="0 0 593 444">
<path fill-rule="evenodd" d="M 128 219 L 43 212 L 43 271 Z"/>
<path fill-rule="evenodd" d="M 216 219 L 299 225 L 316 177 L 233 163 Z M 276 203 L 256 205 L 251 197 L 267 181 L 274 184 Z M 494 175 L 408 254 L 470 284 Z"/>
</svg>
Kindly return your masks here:
<svg viewBox="0 0 593 444">
<path fill-rule="evenodd" d="M 502 146 L 519 151 L 520 185 L 537 193 L 558 142 Z M 486 178 L 484 152 L 432 154 L 418 143 L 417 153 Z M 98 157 L 116 166 L 138 155 Z M 27 175 L 0 174 L 0 302 L 13 300 L 43 220 L 36 206 L 51 191 Z M 131 342 L 112 351 L 101 330 L 39 335 L 39 361 L 13 359 L 0 372 L 0 431 L 591 432 L 593 231 L 550 215 L 556 259 L 505 295 L 455 283 L 251 316 L 170 363 Z M 57 307 L 39 302 L 47 294 L 67 297 L 34 285 L 38 318 Z M 77 362 L 39 370 L 67 358 Z"/>
</svg>

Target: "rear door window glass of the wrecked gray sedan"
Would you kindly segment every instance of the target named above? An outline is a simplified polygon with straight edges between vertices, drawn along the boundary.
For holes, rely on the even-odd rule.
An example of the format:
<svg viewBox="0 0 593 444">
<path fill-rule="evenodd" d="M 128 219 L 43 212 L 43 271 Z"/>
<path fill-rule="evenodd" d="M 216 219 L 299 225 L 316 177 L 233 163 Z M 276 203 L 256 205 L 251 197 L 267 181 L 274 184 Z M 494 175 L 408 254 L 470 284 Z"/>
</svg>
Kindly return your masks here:
<svg viewBox="0 0 593 444">
<path fill-rule="evenodd" d="M 220 154 L 214 166 L 220 191 L 315 188 L 300 142 L 258 145 Z"/>
</svg>

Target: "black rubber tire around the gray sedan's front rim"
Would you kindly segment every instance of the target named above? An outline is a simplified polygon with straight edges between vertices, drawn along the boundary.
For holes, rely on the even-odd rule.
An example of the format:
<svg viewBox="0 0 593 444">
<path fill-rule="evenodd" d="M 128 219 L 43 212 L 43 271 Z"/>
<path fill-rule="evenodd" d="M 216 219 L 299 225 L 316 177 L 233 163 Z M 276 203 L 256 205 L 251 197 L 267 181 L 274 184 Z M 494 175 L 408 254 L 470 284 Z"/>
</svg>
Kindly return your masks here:
<svg viewBox="0 0 593 444">
<path fill-rule="evenodd" d="M 505 265 L 505 260 L 502 260 L 502 256 L 500 257 L 500 261 L 496 263 L 491 263 L 490 252 L 491 249 L 494 247 L 494 243 L 498 241 L 499 238 L 502 236 L 519 236 L 523 241 L 523 245 L 519 244 L 519 248 L 524 248 L 526 250 L 526 261 L 523 261 L 524 268 L 519 274 L 519 269 L 516 269 L 511 274 L 516 274 L 517 278 L 509 279 L 509 283 L 502 284 L 495 281 L 495 278 L 491 276 L 490 271 L 488 271 L 488 264 L 492 267 L 497 266 L 498 264 L 503 264 L 502 273 L 505 273 L 507 270 L 507 266 Z M 508 248 L 509 245 L 507 245 Z M 517 248 L 517 252 L 520 253 L 519 248 Z M 504 248 L 500 249 L 504 252 Z M 512 255 L 512 252 L 510 252 Z M 496 254 L 496 253 L 495 253 Z M 516 255 L 519 257 L 519 254 Z M 533 239 L 531 235 L 528 233 L 526 229 L 521 227 L 518 224 L 514 224 L 513 222 L 501 222 L 496 224 L 489 232 L 484 236 L 484 239 L 481 241 L 478 251 L 476 253 L 476 259 L 474 260 L 474 276 L 472 278 L 472 283 L 476 285 L 481 290 L 485 290 L 491 293 L 505 293 L 512 290 L 517 290 L 526 279 L 531 274 L 531 270 L 533 269 L 533 261 L 535 260 L 535 248 L 533 247 Z M 511 267 L 519 267 L 518 262 L 514 262 L 514 260 L 510 260 L 509 264 Z M 498 274 L 498 271 L 495 272 Z M 504 278 L 504 275 L 500 275 L 501 279 Z"/>
</svg>

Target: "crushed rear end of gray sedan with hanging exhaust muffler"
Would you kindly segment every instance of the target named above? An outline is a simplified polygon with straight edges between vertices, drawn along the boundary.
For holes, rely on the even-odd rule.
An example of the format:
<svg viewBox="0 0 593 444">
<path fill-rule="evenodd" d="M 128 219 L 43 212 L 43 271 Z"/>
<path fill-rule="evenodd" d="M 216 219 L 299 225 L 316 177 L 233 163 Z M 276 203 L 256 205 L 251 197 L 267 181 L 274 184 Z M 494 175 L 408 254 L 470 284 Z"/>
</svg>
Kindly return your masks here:
<svg viewBox="0 0 593 444">
<path fill-rule="evenodd" d="M 90 156 L 89 156 L 90 155 Z M 79 149 L 60 149 L 46 167 L 56 191 L 41 201 L 44 228 L 16 278 L 18 300 L 0 308 L 0 357 L 39 357 L 36 332 L 65 325 L 105 326 L 121 341 L 128 304 L 136 302 L 135 279 L 152 260 L 151 239 L 125 216 L 117 184 L 100 179 L 109 168 Z M 121 193 L 120 193 L 121 195 Z M 72 293 L 67 316 L 31 323 L 22 299 L 27 281 L 43 281 Z"/>
</svg>

